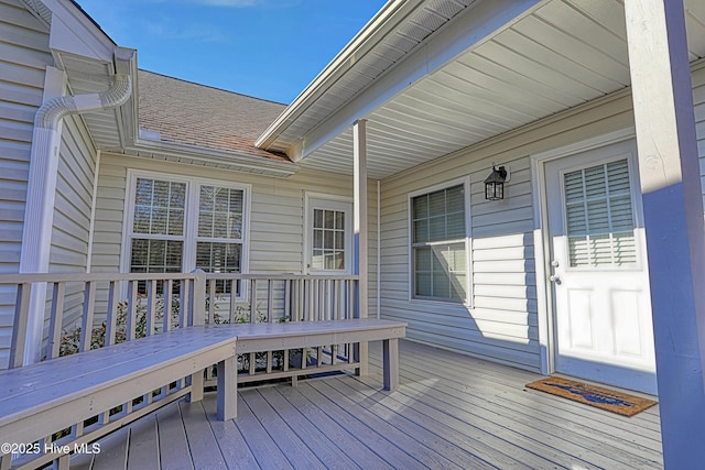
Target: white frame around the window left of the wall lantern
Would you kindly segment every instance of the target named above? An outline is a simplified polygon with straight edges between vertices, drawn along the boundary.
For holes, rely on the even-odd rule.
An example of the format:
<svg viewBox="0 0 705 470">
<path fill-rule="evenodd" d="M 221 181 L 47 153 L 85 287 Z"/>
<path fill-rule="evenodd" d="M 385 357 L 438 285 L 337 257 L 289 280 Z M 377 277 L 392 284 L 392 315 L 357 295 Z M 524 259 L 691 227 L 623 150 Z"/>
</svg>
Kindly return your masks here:
<svg viewBox="0 0 705 470">
<path fill-rule="evenodd" d="M 414 297 L 414 250 L 413 250 L 413 214 L 412 214 L 412 199 L 416 196 L 423 196 L 425 194 L 434 193 L 441 189 L 447 189 L 453 186 L 463 185 L 465 194 L 465 262 L 466 262 L 466 297 L 464 300 L 453 299 L 432 299 L 432 298 L 415 298 Z M 471 237 L 471 221 L 470 221 L 470 177 L 463 176 L 460 178 L 449 179 L 444 183 L 440 183 L 433 186 L 426 186 L 422 189 L 414 190 L 406 195 L 406 234 L 408 234 L 408 248 L 409 248 L 409 302 L 410 303 L 425 303 L 436 304 L 444 306 L 464 305 L 467 308 L 473 306 L 473 237 Z"/>
</svg>

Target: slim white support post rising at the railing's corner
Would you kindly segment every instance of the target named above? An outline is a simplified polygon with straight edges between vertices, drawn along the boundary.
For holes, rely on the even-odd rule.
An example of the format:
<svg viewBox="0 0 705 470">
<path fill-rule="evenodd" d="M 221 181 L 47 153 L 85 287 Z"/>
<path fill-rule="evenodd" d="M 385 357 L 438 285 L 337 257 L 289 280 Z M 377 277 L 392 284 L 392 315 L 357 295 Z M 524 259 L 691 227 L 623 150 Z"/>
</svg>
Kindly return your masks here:
<svg viewBox="0 0 705 470">
<path fill-rule="evenodd" d="M 354 153 L 354 231 L 355 231 L 355 274 L 358 282 L 358 317 L 367 318 L 368 308 L 368 223 L 367 223 L 367 121 L 360 119 L 352 124 Z M 367 342 L 360 342 L 358 374 L 367 375 Z"/>
</svg>

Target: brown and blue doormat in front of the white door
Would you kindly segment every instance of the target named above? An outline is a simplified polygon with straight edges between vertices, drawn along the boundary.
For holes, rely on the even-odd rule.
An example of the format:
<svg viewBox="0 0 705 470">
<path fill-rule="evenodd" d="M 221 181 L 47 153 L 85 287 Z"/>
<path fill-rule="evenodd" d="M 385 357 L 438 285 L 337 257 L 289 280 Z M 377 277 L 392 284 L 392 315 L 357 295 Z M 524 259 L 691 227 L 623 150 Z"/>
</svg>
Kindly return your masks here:
<svg viewBox="0 0 705 470">
<path fill-rule="evenodd" d="M 615 392 L 614 390 L 555 376 L 528 383 L 527 386 L 563 396 L 574 402 L 607 409 L 608 412 L 618 413 L 622 416 L 633 416 L 657 404 L 653 400 L 641 398 L 639 396 Z"/>
</svg>

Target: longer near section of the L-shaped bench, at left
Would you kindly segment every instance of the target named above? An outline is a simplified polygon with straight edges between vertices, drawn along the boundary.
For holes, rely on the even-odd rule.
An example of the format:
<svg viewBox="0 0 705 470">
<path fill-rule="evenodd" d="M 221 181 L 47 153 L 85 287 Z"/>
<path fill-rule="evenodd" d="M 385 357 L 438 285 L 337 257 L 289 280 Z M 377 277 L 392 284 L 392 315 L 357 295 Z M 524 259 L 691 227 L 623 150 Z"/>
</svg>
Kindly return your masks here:
<svg viewBox="0 0 705 470">
<path fill-rule="evenodd" d="M 28 444 L 51 437 L 117 406 L 131 406 L 140 395 L 151 401 L 153 391 L 192 374 L 193 386 L 183 387 L 175 397 L 191 392 L 191 400 L 198 401 L 203 397 L 202 371 L 213 364 L 218 364 L 218 417 L 232 418 L 236 341 L 231 332 L 219 328 L 188 327 L 2 371 L 0 440 Z M 111 427 L 121 424 L 110 423 Z M 80 437 L 72 441 L 72 449 Z M 88 436 L 84 439 L 89 440 Z M 44 453 L 44 447 L 41 450 Z M 8 467 L 9 460 L 6 456 L 0 467 Z"/>
</svg>

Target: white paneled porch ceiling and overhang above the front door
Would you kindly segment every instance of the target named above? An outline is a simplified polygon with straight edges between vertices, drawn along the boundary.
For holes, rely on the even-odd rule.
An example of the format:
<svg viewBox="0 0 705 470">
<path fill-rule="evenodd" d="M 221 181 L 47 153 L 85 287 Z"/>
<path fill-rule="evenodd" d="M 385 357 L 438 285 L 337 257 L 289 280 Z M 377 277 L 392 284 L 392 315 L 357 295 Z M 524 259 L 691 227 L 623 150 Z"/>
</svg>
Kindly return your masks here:
<svg viewBox="0 0 705 470">
<path fill-rule="evenodd" d="M 693 62 L 705 2 L 685 8 Z M 349 174 L 366 119 L 368 174 L 383 178 L 629 86 L 619 1 L 390 1 L 257 143 Z"/>
</svg>

